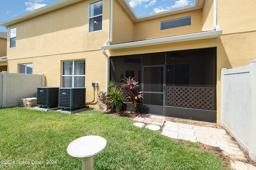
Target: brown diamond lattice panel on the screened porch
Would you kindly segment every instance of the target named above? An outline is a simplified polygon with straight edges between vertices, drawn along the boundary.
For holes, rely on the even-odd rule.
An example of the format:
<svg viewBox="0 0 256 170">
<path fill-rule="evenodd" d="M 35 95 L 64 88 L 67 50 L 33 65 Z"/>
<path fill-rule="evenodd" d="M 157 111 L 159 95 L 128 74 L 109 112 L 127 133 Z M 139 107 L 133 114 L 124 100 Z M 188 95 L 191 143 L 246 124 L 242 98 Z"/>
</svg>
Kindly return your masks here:
<svg viewBox="0 0 256 170">
<path fill-rule="evenodd" d="M 167 86 L 166 106 L 214 110 L 214 88 Z"/>
</svg>

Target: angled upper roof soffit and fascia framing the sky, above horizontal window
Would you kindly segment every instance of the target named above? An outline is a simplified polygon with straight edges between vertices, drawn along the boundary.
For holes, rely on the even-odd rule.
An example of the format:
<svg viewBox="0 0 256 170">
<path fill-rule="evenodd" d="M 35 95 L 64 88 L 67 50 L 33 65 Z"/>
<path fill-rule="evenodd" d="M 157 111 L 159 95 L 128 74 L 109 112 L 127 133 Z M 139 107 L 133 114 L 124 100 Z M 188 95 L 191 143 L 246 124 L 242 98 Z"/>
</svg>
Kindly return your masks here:
<svg viewBox="0 0 256 170">
<path fill-rule="evenodd" d="M 135 14 L 134 10 L 132 10 L 132 7 L 130 6 L 130 4 L 128 3 L 127 0 L 117 0 L 117 1 L 124 8 L 126 13 L 130 16 L 130 18 L 134 22 L 151 20 L 151 19 L 160 18 L 160 17 L 163 17 L 163 16 L 169 16 L 169 15 L 178 14 L 178 13 L 182 13 L 182 12 L 198 10 L 198 9 L 202 9 L 203 5 L 204 5 L 204 0 L 195 0 L 195 4 L 191 5 L 191 6 L 176 8 L 174 10 L 168 10 L 168 11 L 164 11 L 164 12 L 158 12 L 158 13 L 155 13 L 155 14 L 150 14 L 150 15 L 146 15 L 146 16 L 137 17 L 137 15 Z"/>
</svg>

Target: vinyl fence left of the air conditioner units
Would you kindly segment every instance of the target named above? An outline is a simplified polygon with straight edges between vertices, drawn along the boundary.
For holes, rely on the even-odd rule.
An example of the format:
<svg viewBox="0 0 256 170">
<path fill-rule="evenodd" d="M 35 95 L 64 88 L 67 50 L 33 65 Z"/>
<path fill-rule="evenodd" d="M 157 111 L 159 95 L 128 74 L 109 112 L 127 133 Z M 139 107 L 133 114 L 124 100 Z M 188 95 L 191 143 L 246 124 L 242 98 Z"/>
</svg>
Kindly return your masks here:
<svg viewBox="0 0 256 170">
<path fill-rule="evenodd" d="M 0 72 L 0 108 L 18 106 L 21 98 L 35 97 L 42 86 L 44 74 Z"/>
</svg>

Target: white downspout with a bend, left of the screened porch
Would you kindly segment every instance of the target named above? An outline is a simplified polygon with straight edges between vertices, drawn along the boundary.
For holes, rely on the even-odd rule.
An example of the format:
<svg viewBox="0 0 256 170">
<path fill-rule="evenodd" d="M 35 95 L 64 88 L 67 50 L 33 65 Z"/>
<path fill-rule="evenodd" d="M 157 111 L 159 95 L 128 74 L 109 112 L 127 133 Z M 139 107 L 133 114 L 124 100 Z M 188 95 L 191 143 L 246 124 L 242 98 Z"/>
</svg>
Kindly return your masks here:
<svg viewBox="0 0 256 170">
<path fill-rule="evenodd" d="M 110 0 L 110 40 L 105 42 L 105 46 L 109 43 L 112 43 L 112 36 L 113 36 L 113 0 Z M 106 56 L 106 92 L 108 91 L 108 75 L 109 75 L 109 57 L 108 54 L 105 52 L 105 49 L 102 49 L 102 53 Z"/>
</svg>

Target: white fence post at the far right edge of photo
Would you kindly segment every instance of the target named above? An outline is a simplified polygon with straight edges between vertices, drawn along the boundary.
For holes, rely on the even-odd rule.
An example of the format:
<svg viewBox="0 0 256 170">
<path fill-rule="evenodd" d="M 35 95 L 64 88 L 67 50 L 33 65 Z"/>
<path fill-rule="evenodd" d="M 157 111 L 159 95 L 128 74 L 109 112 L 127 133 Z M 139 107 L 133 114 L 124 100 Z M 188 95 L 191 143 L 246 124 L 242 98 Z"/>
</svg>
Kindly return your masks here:
<svg viewBox="0 0 256 170">
<path fill-rule="evenodd" d="M 249 94 L 249 111 L 252 115 L 250 125 L 250 147 L 249 156 L 256 161 L 256 60 L 250 61 L 250 94 Z M 248 117 L 250 119 L 250 117 Z"/>
</svg>

